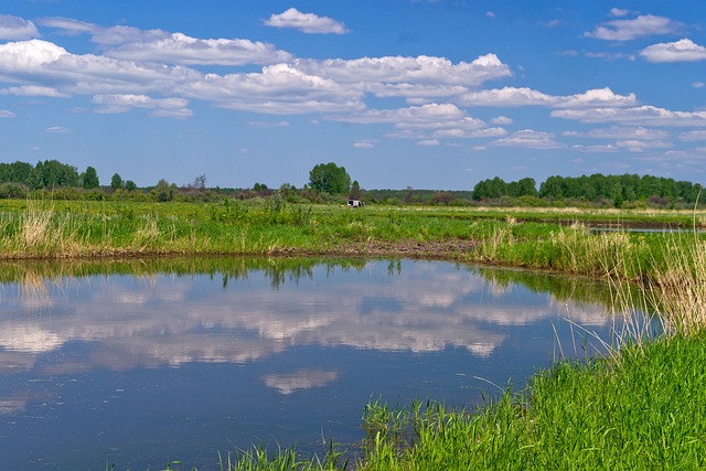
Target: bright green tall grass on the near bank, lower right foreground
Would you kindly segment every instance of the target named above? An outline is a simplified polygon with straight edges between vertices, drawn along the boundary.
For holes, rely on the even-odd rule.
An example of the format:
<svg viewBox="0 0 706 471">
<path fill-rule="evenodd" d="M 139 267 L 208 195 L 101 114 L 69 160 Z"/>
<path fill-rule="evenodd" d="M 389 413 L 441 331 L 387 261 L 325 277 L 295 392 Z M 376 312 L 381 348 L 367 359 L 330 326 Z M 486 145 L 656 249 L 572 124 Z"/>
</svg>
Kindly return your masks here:
<svg viewBox="0 0 706 471">
<path fill-rule="evenodd" d="M 360 470 L 702 469 L 706 335 L 558 363 L 479 410 L 368 405 Z"/>
</svg>

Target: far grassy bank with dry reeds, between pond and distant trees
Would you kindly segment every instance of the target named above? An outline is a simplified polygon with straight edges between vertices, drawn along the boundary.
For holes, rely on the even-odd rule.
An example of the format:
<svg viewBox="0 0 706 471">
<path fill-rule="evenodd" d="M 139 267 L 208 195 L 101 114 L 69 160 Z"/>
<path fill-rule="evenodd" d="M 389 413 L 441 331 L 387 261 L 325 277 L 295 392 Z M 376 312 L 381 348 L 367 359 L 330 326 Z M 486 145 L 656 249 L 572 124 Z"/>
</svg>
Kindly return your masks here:
<svg viewBox="0 0 706 471">
<path fill-rule="evenodd" d="M 549 217 L 550 216 L 550 217 Z M 552 223 L 537 221 L 553 221 Z M 663 237 L 589 225 L 697 225 L 704 214 L 576 210 L 304 206 L 276 195 L 247 202 L 4 201 L 0 259 L 133 255 L 360 255 L 452 258 L 601 277 L 665 269 Z M 535 222 L 533 222 L 535 221 Z M 645 223 L 646 224 L 646 223 Z M 672 236 L 691 243 L 688 234 Z"/>
</svg>

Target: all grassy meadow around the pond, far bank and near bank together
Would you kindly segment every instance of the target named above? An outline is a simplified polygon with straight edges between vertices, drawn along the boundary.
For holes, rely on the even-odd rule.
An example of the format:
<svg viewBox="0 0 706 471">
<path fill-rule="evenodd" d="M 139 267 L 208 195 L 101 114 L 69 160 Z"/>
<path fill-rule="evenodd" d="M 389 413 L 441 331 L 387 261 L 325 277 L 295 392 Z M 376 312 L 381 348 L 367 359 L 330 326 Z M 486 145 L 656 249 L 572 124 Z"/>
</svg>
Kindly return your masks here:
<svg viewBox="0 0 706 471">
<path fill-rule="evenodd" d="M 632 308 L 606 357 L 558 362 L 524 390 L 499 388 L 478 410 L 371 403 L 353 454 L 334 443 L 321 458 L 254 448 L 225 451 L 221 468 L 699 469 L 706 465 L 705 221 L 697 211 L 349 210 L 277 195 L 218 203 L 2 201 L 0 260 L 443 258 L 600 278 L 613 288 L 617 311 L 634 306 L 638 288 L 642 306 Z M 665 232 L 595 229 L 606 226 Z M 656 323 L 644 318 L 649 312 L 657 312 Z"/>
</svg>

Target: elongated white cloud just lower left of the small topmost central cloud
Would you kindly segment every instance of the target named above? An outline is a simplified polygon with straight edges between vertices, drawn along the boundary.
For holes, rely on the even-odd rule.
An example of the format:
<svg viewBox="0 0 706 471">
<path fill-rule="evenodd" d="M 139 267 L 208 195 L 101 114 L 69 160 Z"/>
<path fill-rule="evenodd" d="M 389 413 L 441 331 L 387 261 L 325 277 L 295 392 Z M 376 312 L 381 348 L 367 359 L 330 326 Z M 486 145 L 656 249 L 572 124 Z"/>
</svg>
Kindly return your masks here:
<svg viewBox="0 0 706 471">
<path fill-rule="evenodd" d="M 130 42 L 106 51 L 115 58 L 188 65 L 272 64 L 291 60 L 274 45 L 248 40 L 197 40 L 174 33 L 150 42 Z"/>
</svg>

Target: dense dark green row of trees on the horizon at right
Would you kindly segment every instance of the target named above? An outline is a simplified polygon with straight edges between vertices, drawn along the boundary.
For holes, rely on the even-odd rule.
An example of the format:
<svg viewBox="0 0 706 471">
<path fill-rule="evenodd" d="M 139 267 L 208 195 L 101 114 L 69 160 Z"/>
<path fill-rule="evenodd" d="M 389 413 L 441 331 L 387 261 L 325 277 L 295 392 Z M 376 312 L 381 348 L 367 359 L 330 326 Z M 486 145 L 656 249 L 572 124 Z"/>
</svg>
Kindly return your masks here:
<svg viewBox="0 0 706 471">
<path fill-rule="evenodd" d="M 534 179 L 506 183 L 500 178 L 480 181 L 473 188 L 473 200 L 500 200 L 503 197 L 539 197 L 550 201 L 580 200 L 610 202 L 620 207 L 623 202 L 649 202 L 655 205 L 695 203 L 702 185 L 651 175 L 549 176 L 537 191 Z"/>
</svg>

